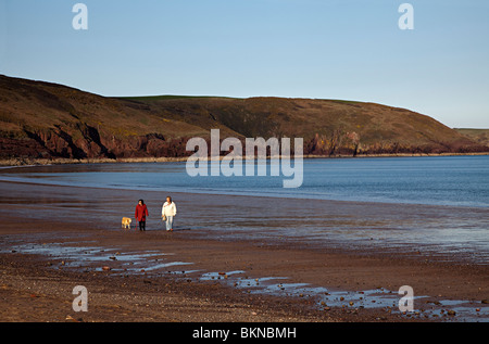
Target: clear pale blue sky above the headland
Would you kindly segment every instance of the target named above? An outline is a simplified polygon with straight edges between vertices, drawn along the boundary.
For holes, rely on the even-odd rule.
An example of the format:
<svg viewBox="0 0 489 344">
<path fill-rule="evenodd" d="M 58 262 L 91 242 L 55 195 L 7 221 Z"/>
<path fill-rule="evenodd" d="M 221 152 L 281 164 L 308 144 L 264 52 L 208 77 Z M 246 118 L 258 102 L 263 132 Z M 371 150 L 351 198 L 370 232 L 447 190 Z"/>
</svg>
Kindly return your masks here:
<svg viewBox="0 0 489 344">
<path fill-rule="evenodd" d="M 88 7 L 88 30 L 72 8 Z M 414 30 L 398 8 L 414 7 Z M 489 128 L 487 0 L 0 0 L 0 74 L 102 95 L 322 98 Z"/>
</svg>

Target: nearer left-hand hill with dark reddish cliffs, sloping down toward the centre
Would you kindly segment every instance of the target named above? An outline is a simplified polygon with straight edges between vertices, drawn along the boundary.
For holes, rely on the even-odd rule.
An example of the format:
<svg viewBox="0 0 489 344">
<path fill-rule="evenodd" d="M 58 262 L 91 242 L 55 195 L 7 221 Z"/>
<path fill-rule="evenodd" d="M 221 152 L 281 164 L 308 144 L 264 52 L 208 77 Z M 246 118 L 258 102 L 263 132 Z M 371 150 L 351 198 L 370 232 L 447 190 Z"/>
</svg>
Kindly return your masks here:
<svg viewBox="0 0 489 344">
<path fill-rule="evenodd" d="M 181 156 L 200 127 L 145 104 L 0 76 L 0 157 Z"/>
</svg>

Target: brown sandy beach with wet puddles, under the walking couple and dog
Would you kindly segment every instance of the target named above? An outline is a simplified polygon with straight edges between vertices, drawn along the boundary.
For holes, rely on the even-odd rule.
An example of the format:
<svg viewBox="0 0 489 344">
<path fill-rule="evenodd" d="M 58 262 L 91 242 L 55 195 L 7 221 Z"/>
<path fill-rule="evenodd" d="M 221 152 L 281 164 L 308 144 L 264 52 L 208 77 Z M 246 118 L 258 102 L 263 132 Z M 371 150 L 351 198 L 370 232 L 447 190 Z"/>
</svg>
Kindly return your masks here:
<svg viewBox="0 0 489 344">
<path fill-rule="evenodd" d="M 160 192 L 7 182 L 0 190 L 2 321 L 488 321 L 487 265 L 427 257 L 416 246 L 328 247 L 272 235 L 293 200 L 174 193 L 168 233 Z M 148 231 L 122 230 L 140 198 L 150 205 Z M 326 207 L 379 217 L 398 207 L 306 203 L 301 220 Z M 236 224 L 256 228 L 261 209 L 269 215 L 263 232 L 247 235 Z M 413 205 L 399 216 L 414 211 L 427 212 Z M 72 309 L 75 285 L 89 291 L 88 313 Z M 398 310 L 401 285 L 426 296 L 414 313 Z M 466 302 L 468 316 L 453 301 Z"/>
</svg>

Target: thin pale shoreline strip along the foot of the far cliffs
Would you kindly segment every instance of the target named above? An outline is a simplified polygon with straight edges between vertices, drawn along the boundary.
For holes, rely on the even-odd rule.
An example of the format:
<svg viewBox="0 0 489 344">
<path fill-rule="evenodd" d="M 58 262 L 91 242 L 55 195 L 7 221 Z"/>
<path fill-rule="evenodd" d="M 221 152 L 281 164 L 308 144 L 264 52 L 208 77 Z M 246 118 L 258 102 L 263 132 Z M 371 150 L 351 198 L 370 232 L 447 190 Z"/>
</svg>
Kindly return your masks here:
<svg viewBox="0 0 489 344">
<path fill-rule="evenodd" d="M 423 156 L 479 156 L 489 152 L 474 153 L 399 153 L 399 154 L 359 154 L 352 155 L 304 155 L 304 160 L 315 158 L 368 158 L 368 157 L 423 157 Z M 221 156 L 223 160 L 225 156 Z M 246 158 L 246 157 L 243 157 Z M 269 160 L 269 156 L 267 157 Z M 130 163 L 178 163 L 187 162 L 185 157 L 122 157 L 122 158 L 30 158 L 13 157 L 0 160 L 0 166 L 43 166 L 43 165 L 79 165 L 79 164 L 130 164 Z"/>
</svg>

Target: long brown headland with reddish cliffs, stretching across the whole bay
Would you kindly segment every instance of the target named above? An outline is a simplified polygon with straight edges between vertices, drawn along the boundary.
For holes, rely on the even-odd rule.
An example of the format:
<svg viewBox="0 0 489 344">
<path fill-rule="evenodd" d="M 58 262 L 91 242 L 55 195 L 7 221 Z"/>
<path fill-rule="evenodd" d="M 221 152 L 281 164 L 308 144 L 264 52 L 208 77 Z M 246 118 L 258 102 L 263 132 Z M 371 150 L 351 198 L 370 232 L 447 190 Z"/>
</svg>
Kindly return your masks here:
<svg viewBox="0 0 489 344">
<path fill-rule="evenodd" d="M 302 137 L 304 153 L 487 152 L 404 109 L 339 100 L 216 97 L 105 98 L 0 76 L 0 158 L 180 157 L 191 137 Z"/>
</svg>

